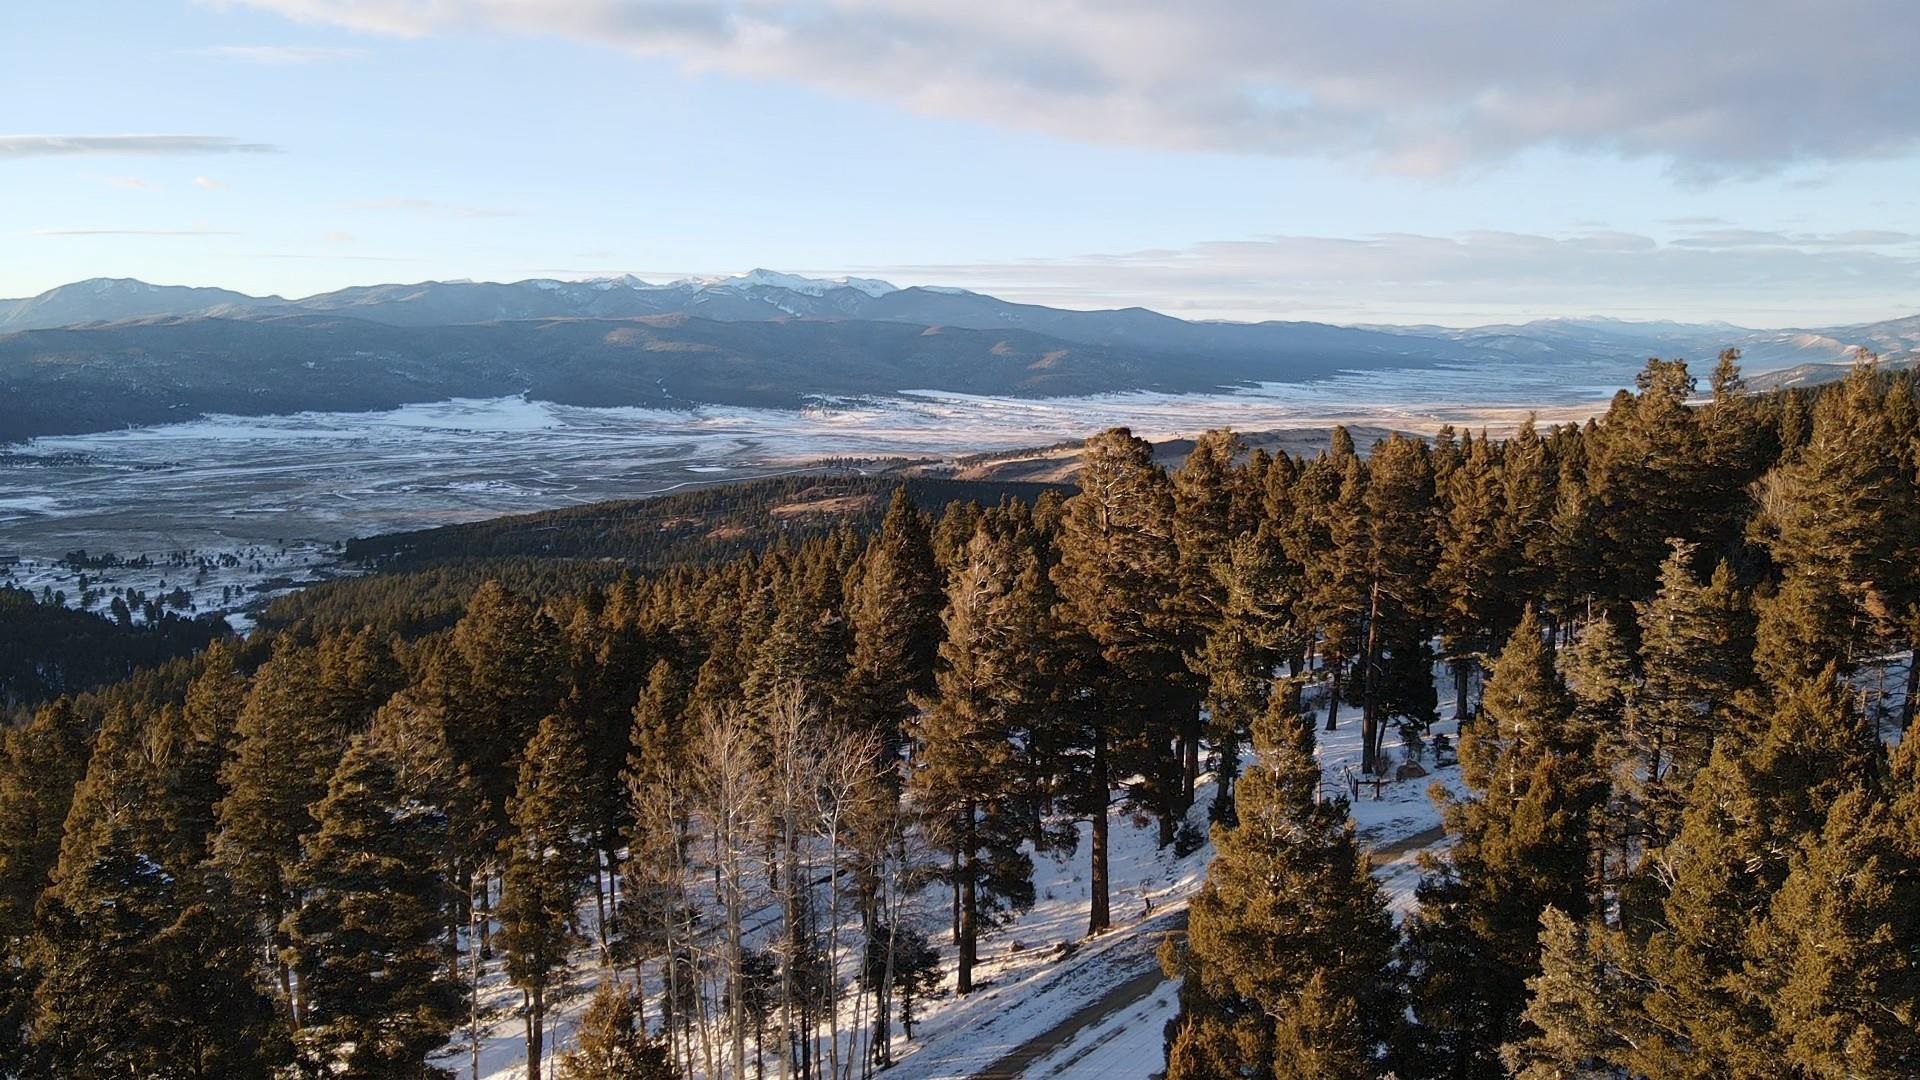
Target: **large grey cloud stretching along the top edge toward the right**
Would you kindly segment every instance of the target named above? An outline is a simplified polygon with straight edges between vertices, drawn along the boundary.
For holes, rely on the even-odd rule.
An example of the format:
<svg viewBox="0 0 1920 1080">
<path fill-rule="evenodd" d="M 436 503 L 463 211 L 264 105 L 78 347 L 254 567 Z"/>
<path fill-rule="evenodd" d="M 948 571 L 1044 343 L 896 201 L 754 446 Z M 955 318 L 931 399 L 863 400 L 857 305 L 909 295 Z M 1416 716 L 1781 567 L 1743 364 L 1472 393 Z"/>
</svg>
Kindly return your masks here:
<svg viewBox="0 0 1920 1080">
<path fill-rule="evenodd" d="M 1920 146 L 1910 0 L 223 2 L 380 35 L 561 35 L 1079 140 L 1405 173 L 1548 148 L 1701 179 Z"/>
</svg>

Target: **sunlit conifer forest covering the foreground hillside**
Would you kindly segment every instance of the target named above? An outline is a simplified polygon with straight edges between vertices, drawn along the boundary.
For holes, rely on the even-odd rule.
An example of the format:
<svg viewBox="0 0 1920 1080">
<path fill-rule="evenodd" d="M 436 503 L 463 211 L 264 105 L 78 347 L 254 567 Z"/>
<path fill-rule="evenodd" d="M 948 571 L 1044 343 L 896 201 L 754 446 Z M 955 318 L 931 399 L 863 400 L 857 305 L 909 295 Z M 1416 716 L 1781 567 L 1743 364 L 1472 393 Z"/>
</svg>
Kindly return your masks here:
<svg viewBox="0 0 1920 1080">
<path fill-rule="evenodd" d="M 1169 1080 L 1920 1074 L 1916 380 L 1734 361 L 1505 442 L 1117 429 L 1075 492 L 639 573 L 584 559 L 643 511 L 369 548 L 520 569 L 342 582 L 6 732 L 0 1076 L 468 1074 L 499 978 L 536 1076 L 872 1076 L 1037 855 L 1091 826 L 1100 934 L 1108 807 L 1190 851 L 1206 790 Z M 1311 753 L 1396 771 L 1436 665 L 1469 796 L 1396 922 Z"/>
</svg>

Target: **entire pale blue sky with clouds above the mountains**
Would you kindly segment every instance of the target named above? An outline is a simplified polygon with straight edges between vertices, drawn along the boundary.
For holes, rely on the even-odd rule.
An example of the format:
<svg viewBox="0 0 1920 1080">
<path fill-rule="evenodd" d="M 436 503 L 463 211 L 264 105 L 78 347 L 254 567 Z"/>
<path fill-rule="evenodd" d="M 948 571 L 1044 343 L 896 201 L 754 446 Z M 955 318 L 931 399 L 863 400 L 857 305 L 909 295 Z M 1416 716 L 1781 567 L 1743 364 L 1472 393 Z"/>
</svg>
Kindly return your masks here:
<svg viewBox="0 0 1920 1080">
<path fill-rule="evenodd" d="M 1185 317 L 1920 313 L 1910 0 L 71 0 L 0 296 L 772 267 Z"/>
</svg>

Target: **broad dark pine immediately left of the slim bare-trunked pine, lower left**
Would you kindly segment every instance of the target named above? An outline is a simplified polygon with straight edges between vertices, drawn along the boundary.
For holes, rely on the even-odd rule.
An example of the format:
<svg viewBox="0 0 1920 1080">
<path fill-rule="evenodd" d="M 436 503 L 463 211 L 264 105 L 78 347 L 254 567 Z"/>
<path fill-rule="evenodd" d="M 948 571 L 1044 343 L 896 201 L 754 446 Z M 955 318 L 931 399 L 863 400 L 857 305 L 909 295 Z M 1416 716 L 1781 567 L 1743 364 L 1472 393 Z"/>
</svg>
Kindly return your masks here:
<svg viewBox="0 0 1920 1080">
<path fill-rule="evenodd" d="M 461 988 L 442 963 L 447 815 L 409 794 L 401 763 L 359 738 L 340 759 L 294 872 L 284 934 L 300 978 L 300 1042 L 323 1068 L 432 1076 Z"/>
</svg>

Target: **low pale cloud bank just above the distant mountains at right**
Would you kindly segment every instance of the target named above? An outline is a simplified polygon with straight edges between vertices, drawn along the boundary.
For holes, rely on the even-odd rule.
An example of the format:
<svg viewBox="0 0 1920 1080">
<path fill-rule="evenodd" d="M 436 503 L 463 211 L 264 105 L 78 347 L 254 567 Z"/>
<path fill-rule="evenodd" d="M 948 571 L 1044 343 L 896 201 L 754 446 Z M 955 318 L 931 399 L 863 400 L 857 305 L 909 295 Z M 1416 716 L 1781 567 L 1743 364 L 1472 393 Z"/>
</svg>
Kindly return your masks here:
<svg viewBox="0 0 1920 1080">
<path fill-rule="evenodd" d="M 1834 325 L 1908 311 L 1920 244 L 1849 233 L 1716 246 L 1634 233 L 1254 236 L 1002 263 L 864 265 L 1037 304 L 1144 304 L 1190 317 L 1492 323 L 1540 315 Z"/>
</svg>

